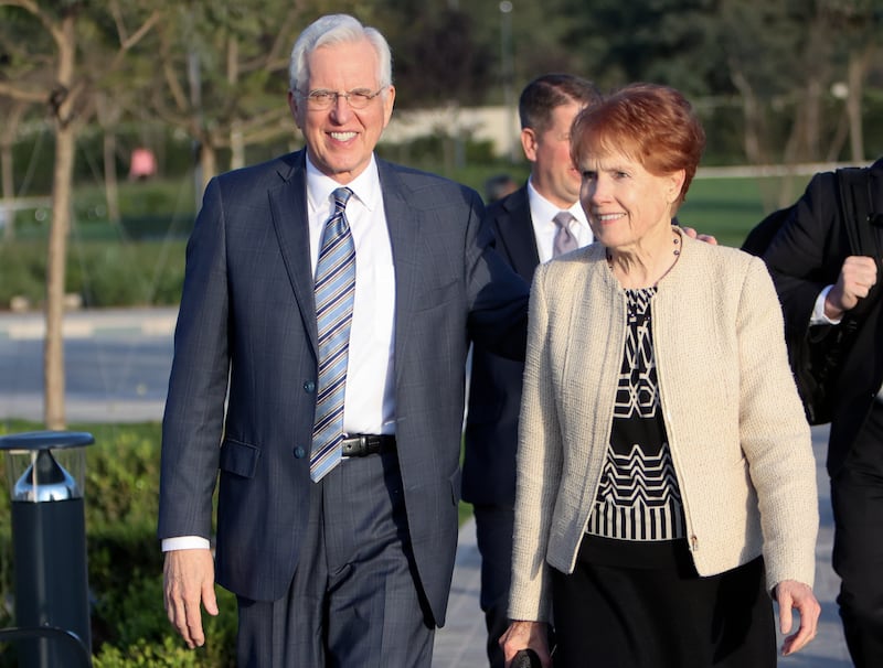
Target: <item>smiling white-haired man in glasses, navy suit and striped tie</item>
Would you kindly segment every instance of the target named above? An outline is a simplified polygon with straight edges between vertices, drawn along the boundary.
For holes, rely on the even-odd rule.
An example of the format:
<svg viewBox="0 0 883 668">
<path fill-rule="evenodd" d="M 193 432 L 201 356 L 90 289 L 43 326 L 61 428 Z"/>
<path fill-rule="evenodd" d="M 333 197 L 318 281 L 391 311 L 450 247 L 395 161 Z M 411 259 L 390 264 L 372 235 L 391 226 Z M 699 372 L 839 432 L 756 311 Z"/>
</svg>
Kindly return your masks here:
<svg viewBox="0 0 883 668">
<path fill-rule="evenodd" d="M 215 580 L 234 592 L 242 667 L 428 668 L 456 551 L 469 341 L 524 353 L 526 284 L 488 247 L 480 196 L 374 155 L 391 69 L 355 19 L 308 26 L 289 73 L 306 149 L 212 180 L 188 245 L 163 419 L 166 608 L 199 646 Z M 343 248 L 344 304 L 350 244 L 350 332 L 327 356 L 313 281 L 326 246 Z M 342 412 L 320 374 L 336 359 Z"/>
</svg>

